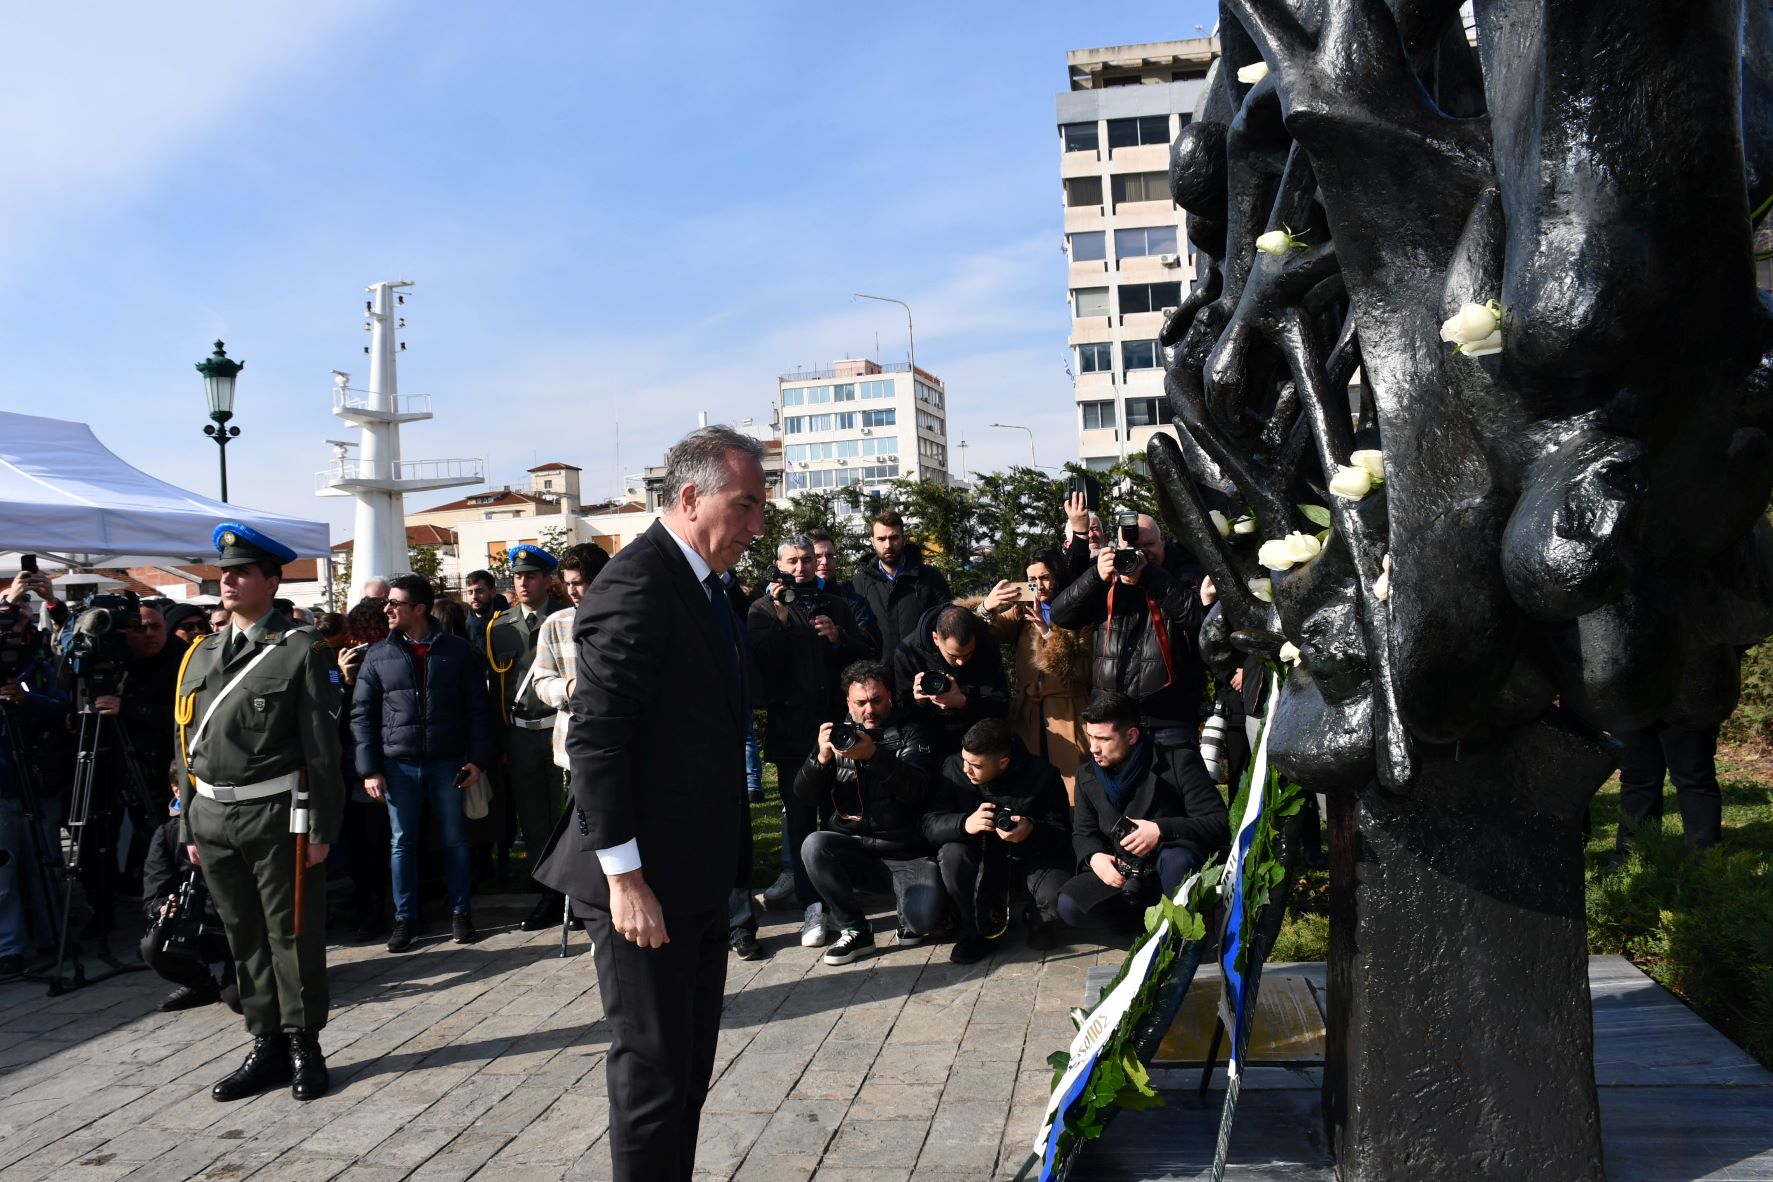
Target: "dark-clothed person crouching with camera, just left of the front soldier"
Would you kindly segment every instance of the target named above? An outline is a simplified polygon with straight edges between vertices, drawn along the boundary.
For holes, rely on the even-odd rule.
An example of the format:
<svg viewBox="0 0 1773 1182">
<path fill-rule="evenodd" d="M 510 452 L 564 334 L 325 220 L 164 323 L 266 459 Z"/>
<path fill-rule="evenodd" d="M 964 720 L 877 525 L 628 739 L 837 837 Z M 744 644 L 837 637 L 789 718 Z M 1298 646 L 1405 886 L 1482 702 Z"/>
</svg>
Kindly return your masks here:
<svg viewBox="0 0 1773 1182">
<path fill-rule="evenodd" d="M 154 833 L 142 863 L 142 911 L 149 921 L 147 934 L 142 936 L 142 960 L 177 985 L 160 1008 L 190 1010 L 222 1001 L 239 1014 L 234 953 L 227 946 L 215 900 L 209 898 L 204 872 L 179 840 L 177 796 L 172 820 Z M 209 971 L 211 964 L 222 966 L 220 978 Z"/>
</svg>

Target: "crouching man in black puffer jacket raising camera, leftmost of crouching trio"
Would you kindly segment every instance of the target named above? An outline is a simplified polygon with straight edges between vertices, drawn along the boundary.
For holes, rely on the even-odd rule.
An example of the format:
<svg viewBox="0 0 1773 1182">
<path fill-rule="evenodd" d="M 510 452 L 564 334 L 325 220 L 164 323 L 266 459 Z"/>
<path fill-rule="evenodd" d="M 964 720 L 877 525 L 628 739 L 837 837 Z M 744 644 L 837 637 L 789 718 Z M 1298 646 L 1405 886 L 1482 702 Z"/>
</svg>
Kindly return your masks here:
<svg viewBox="0 0 1773 1182">
<path fill-rule="evenodd" d="M 929 797 L 929 746 L 917 723 L 892 723 L 886 666 L 856 661 L 844 670 L 849 734 L 819 727 L 819 750 L 794 778 L 794 792 L 812 808 L 832 810 L 830 829 L 801 845 L 807 875 L 824 900 L 837 941 L 826 964 L 849 964 L 874 952 L 874 929 L 856 902 L 856 888 L 892 886 L 899 906 L 899 943 L 920 945 L 941 921 L 947 897 L 924 842 Z"/>
</svg>

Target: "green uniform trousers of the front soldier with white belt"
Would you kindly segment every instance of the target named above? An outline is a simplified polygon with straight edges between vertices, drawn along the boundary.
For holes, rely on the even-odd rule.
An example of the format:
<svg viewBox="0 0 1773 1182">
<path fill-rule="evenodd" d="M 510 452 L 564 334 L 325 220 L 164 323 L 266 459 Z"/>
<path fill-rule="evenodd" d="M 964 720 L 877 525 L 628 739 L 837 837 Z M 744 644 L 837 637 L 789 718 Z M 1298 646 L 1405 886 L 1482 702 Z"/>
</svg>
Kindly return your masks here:
<svg viewBox="0 0 1773 1182">
<path fill-rule="evenodd" d="M 193 794 L 190 828 L 204 883 L 234 950 L 246 1033 L 319 1033 L 332 1001 L 326 989 L 326 863 L 307 872 L 298 939 L 289 797 L 220 805 Z"/>
</svg>

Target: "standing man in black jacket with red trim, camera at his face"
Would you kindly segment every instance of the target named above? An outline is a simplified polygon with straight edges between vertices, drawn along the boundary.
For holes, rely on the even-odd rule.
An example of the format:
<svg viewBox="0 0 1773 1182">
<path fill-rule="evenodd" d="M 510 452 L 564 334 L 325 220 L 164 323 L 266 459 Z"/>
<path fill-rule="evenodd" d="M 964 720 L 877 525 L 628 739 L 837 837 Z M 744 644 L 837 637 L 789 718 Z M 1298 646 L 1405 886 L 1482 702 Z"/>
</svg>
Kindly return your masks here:
<svg viewBox="0 0 1773 1182">
<path fill-rule="evenodd" d="M 1115 571 L 1122 539 L 1103 546 L 1096 567 L 1058 592 L 1053 624 L 1096 631 L 1090 682 L 1138 702 L 1140 730 L 1163 748 L 1195 748 L 1200 734 L 1199 564 L 1138 514 L 1138 546 L 1126 548 L 1126 572 Z"/>
</svg>

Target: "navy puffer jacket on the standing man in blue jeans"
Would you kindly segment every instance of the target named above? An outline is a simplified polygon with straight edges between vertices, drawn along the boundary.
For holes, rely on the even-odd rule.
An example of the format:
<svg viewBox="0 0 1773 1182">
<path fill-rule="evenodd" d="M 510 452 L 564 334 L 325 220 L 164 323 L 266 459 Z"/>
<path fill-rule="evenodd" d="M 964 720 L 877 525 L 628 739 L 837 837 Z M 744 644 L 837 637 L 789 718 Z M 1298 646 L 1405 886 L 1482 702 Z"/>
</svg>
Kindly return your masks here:
<svg viewBox="0 0 1773 1182">
<path fill-rule="evenodd" d="M 363 654 L 351 693 L 351 743 L 360 776 L 379 776 L 383 760 L 493 762 L 493 704 L 486 661 L 461 636 L 436 624 L 427 636 L 424 684 L 411 642 L 395 629 Z"/>
</svg>

